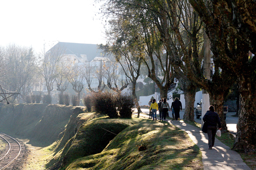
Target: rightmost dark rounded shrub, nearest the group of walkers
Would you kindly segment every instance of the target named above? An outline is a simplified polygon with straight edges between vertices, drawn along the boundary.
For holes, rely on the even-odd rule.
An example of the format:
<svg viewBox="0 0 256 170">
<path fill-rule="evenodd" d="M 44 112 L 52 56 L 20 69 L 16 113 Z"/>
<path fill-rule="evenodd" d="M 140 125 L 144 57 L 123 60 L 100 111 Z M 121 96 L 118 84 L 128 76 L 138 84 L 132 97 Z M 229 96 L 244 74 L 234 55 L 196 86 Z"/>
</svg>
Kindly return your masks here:
<svg viewBox="0 0 256 170">
<path fill-rule="evenodd" d="M 121 118 L 131 118 L 134 100 L 132 96 L 119 95 L 117 97 L 118 109 Z"/>
</svg>

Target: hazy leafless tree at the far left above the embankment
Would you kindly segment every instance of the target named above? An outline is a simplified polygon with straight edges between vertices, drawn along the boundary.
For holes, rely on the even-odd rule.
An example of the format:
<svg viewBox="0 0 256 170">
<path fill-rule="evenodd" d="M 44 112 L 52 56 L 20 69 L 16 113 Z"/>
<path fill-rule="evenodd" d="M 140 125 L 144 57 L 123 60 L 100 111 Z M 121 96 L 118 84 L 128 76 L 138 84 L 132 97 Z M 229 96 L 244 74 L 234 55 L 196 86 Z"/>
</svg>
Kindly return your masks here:
<svg viewBox="0 0 256 170">
<path fill-rule="evenodd" d="M 32 92 L 35 82 L 36 59 L 33 50 L 13 44 L 5 48 L 3 56 L 6 67 L 2 83 L 6 89 L 20 93 L 24 98 Z"/>
</svg>

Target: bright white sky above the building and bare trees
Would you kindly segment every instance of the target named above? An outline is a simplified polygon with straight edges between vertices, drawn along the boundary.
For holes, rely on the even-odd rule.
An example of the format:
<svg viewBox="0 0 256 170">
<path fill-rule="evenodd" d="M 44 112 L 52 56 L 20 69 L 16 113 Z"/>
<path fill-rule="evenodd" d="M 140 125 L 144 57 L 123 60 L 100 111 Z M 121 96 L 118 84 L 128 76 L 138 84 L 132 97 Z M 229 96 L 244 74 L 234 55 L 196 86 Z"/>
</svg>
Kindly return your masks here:
<svg viewBox="0 0 256 170">
<path fill-rule="evenodd" d="M 99 8 L 94 0 L 0 0 L 0 46 L 42 52 L 59 41 L 105 44 Z"/>
</svg>

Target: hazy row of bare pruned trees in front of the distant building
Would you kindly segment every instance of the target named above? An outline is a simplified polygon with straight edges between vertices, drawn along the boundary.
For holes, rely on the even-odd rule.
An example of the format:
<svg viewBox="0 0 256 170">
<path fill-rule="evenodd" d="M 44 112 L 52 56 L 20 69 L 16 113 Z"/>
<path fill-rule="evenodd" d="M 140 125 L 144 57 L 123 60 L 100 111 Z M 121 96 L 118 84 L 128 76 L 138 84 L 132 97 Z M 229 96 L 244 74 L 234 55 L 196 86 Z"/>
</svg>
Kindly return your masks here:
<svg viewBox="0 0 256 170">
<path fill-rule="evenodd" d="M 33 91 L 42 95 L 52 95 L 53 87 L 63 96 L 69 84 L 77 94 L 77 104 L 80 102 L 81 92 L 85 86 L 90 92 L 101 92 L 104 89 L 112 90 L 118 94 L 124 90 L 130 80 L 123 73 L 126 65 L 101 58 L 100 61 L 77 63 L 73 58 L 65 56 L 61 47 L 55 47 L 47 53 L 34 54 L 32 48 L 9 45 L 0 49 L 1 79 L 0 83 L 5 92 L 16 92 L 9 100 L 13 102 L 26 102 Z M 123 76 L 123 77 L 121 77 Z M 94 82 L 93 82 L 94 81 Z M 98 82 L 97 88 L 93 87 Z M 94 83 L 94 84 L 93 84 Z"/>
</svg>

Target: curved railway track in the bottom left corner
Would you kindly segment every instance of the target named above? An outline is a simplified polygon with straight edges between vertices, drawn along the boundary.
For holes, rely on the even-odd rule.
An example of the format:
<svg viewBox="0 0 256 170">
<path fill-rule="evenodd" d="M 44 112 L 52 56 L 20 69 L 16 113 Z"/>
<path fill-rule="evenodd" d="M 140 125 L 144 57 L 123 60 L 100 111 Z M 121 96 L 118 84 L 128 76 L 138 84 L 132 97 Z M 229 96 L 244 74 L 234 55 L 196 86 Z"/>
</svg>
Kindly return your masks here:
<svg viewBox="0 0 256 170">
<path fill-rule="evenodd" d="M 0 133 L 0 139 L 5 143 L 5 150 L 0 152 L 0 170 L 13 169 L 11 163 L 13 163 L 20 155 L 20 143 L 16 141 L 16 139 L 3 133 Z"/>
</svg>

